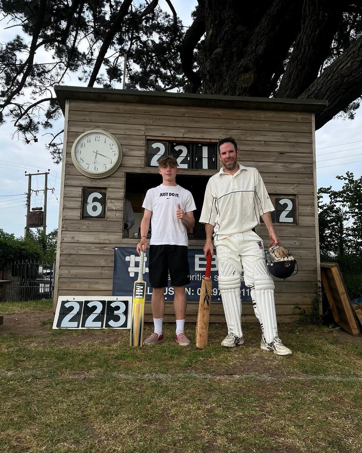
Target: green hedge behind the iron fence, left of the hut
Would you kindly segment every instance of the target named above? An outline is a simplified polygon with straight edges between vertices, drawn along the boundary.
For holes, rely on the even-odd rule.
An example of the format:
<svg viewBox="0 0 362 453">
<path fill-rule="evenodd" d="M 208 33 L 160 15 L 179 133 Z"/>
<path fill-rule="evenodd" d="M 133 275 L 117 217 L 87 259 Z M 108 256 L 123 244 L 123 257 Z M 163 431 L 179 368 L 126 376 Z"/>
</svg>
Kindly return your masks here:
<svg viewBox="0 0 362 453">
<path fill-rule="evenodd" d="M 42 229 L 29 230 L 24 238 L 16 238 L 0 228 L 0 269 L 14 261 L 35 261 L 52 266 L 57 251 L 57 230 L 47 235 Z"/>
</svg>

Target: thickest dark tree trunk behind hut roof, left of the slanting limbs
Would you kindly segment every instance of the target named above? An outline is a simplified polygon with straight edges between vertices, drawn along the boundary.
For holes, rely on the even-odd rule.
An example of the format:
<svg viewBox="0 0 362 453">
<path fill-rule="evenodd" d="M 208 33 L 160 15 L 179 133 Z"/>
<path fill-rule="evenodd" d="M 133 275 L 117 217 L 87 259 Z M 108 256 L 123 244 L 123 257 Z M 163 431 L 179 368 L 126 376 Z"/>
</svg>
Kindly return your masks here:
<svg viewBox="0 0 362 453">
<path fill-rule="evenodd" d="M 205 1 L 200 51 L 203 92 L 269 96 L 301 19 L 301 2 Z M 273 82 L 272 82 L 273 81 Z"/>
</svg>

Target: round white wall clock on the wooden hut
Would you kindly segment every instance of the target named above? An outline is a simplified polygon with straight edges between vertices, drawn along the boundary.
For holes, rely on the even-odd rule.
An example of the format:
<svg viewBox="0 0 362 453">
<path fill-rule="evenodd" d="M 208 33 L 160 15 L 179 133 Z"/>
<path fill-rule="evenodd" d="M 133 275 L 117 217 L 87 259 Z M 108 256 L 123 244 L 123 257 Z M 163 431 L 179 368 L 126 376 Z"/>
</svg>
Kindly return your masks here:
<svg viewBox="0 0 362 453">
<path fill-rule="evenodd" d="M 119 167 L 122 149 L 113 135 L 103 130 L 90 130 L 76 139 L 71 158 L 84 175 L 105 178 Z"/>
</svg>

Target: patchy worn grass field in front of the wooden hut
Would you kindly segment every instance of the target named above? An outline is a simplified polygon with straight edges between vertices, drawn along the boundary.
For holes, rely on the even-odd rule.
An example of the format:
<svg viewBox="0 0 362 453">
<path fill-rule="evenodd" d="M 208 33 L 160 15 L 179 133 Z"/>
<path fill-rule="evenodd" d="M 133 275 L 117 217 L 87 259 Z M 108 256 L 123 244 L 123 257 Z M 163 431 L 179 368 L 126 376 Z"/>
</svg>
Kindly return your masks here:
<svg viewBox="0 0 362 453">
<path fill-rule="evenodd" d="M 223 324 L 203 351 L 166 324 L 162 344 L 131 349 L 129 331 L 52 331 L 48 302 L 23 307 L 0 304 L 1 452 L 362 450 L 361 337 L 281 324 L 294 353 L 276 357 L 256 324 L 231 351 Z"/>
</svg>

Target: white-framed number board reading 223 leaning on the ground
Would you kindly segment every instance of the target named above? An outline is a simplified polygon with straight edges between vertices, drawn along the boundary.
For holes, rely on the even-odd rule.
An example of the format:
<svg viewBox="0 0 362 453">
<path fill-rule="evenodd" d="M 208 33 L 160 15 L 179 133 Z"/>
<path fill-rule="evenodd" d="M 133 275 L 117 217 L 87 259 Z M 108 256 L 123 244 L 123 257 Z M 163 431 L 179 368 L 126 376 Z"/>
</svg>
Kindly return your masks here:
<svg viewBox="0 0 362 453">
<path fill-rule="evenodd" d="M 132 297 L 59 296 L 53 329 L 129 329 Z"/>
</svg>

